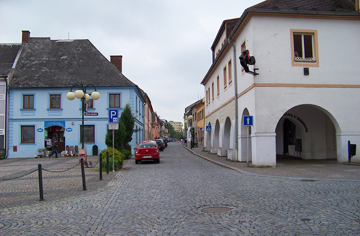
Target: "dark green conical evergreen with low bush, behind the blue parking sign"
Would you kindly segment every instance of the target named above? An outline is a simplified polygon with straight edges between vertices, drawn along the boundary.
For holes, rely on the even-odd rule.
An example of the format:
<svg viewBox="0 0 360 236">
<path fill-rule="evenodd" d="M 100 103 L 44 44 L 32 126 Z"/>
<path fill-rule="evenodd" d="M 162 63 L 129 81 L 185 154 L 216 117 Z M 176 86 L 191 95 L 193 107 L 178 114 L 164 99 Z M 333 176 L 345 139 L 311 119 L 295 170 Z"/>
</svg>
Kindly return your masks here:
<svg viewBox="0 0 360 236">
<path fill-rule="evenodd" d="M 129 103 L 126 103 L 122 109 L 119 119 L 119 129 L 114 130 L 114 147 L 117 150 L 129 149 L 129 142 L 131 142 L 134 133 L 135 118 L 131 112 Z M 107 147 L 113 146 L 113 131 L 107 130 L 105 136 L 105 144 Z"/>
</svg>

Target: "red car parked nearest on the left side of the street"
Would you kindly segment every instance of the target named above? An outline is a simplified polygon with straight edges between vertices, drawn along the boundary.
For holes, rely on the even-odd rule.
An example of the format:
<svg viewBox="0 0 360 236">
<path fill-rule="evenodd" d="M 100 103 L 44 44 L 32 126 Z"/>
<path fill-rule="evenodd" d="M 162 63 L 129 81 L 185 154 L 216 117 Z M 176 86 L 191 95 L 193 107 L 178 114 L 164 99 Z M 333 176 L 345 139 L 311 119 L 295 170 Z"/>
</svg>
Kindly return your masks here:
<svg viewBox="0 0 360 236">
<path fill-rule="evenodd" d="M 155 141 L 144 141 L 137 144 L 135 151 L 135 163 L 138 164 L 139 161 L 148 161 L 154 160 L 157 163 L 160 163 L 159 150 Z"/>
</svg>

